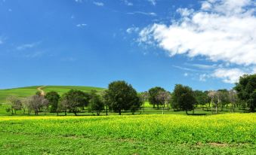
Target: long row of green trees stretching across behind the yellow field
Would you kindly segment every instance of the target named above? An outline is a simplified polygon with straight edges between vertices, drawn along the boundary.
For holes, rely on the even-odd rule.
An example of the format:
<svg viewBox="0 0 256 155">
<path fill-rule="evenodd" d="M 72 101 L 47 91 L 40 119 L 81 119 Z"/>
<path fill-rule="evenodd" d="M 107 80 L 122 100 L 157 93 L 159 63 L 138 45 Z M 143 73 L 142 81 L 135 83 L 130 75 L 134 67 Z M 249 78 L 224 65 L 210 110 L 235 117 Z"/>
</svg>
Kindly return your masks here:
<svg viewBox="0 0 256 155">
<path fill-rule="evenodd" d="M 69 90 L 60 96 L 57 92 L 51 91 L 42 96 L 36 93 L 26 99 L 20 99 L 15 96 L 9 96 L 7 102 L 11 108 L 7 108 L 11 114 L 16 111 L 27 111 L 35 115 L 39 112 L 64 113 L 67 112 L 78 115 L 85 108 L 89 112 L 100 115 L 102 111 L 114 111 L 122 114 L 122 111 L 145 110 L 145 102 L 150 102 L 153 108 L 162 108 L 162 114 L 165 109 L 173 108 L 174 111 L 193 111 L 196 107 L 202 106 L 211 110 L 212 114 L 217 114 L 218 109 L 223 111 L 224 107 L 230 106 L 230 112 L 235 112 L 236 107 L 248 108 L 254 112 L 256 107 L 256 74 L 245 74 L 236 83 L 232 90 L 192 90 L 188 86 L 176 84 L 172 93 L 162 87 L 153 87 L 150 90 L 137 93 L 131 84 L 125 81 L 113 81 L 108 89 L 103 92 L 91 90 L 85 93 L 81 90 Z"/>
</svg>

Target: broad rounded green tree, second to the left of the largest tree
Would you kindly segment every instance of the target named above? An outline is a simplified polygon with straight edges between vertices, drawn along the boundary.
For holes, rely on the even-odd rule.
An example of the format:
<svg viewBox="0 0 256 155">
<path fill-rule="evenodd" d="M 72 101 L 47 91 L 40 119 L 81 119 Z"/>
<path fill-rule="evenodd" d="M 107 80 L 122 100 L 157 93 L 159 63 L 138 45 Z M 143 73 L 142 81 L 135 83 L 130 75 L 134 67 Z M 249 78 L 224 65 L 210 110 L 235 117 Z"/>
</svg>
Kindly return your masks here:
<svg viewBox="0 0 256 155">
<path fill-rule="evenodd" d="M 77 113 L 81 108 L 88 105 L 90 96 L 88 93 L 82 92 L 81 90 L 69 90 L 63 96 L 62 101 L 67 105 L 67 109 L 77 116 Z"/>
</svg>

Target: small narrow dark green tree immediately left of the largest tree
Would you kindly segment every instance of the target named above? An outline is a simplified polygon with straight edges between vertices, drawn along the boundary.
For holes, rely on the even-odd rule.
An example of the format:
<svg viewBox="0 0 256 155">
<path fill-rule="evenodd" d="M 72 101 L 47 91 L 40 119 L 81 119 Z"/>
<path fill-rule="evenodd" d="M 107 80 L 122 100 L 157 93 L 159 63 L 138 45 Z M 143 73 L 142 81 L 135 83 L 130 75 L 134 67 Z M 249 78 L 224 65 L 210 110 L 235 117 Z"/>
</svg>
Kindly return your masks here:
<svg viewBox="0 0 256 155">
<path fill-rule="evenodd" d="M 104 103 L 101 96 L 96 93 L 92 94 L 89 108 L 91 112 L 96 112 L 97 116 L 99 116 L 100 112 L 104 110 Z"/>
</svg>

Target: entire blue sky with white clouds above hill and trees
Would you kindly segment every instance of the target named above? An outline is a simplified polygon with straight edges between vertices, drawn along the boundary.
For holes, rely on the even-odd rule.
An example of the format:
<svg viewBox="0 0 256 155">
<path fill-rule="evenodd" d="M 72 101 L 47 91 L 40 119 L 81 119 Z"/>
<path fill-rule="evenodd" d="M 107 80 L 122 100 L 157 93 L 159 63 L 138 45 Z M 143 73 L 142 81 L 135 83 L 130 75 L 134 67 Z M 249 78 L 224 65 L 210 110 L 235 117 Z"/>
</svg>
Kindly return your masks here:
<svg viewBox="0 0 256 155">
<path fill-rule="evenodd" d="M 230 89 L 256 71 L 255 3 L 234 2 L 2 0 L 0 89 L 116 80 L 138 91 Z"/>
</svg>

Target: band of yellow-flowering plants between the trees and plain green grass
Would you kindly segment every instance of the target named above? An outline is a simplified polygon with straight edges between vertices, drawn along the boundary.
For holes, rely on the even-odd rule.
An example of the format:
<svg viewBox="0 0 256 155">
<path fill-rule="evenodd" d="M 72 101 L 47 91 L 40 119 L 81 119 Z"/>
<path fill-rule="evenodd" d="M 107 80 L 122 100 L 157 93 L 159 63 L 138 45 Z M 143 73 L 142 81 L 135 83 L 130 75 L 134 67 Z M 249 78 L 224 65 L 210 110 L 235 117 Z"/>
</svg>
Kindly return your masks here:
<svg viewBox="0 0 256 155">
<path fill-rule="evenodd" d="M 11 150 L 10 146 L 5 146 L 4 141 L 14 143 L 19 141 L 19 136 L 24 136 L 23 138 L 38 136 L 47 137 L 47 141 L 51 141 L 51 138 L 90 139 L 90 141 L 94 139 L 91 144 L 101 141 L 99 139 L 142 143 L 154 141 L 156 145 L 177 144 L 177 146 L 222 144 L 221 146 L 232 145 L 240 147 L 239 149 L 242 149 L 242 144 L 249 144 L 251 153 L 256 153 L 253 149 L 256 146 L 256 114 L 0 117 L 1 135 L 4 135 L 5 140 L 0 140 L 0 150 L 4 151 Z M 12 141 L 12 138 L 8 138 L 10 136 L 16 140 Z M 37 140 L 34 143 L 36 144 Z M 88 144 L 88 147 L 91 145 Z M 23 149 L 26 150 L 26 147 Z"/>
</svg>

